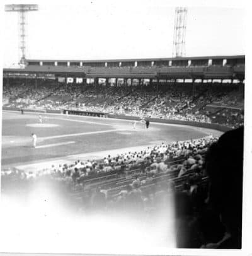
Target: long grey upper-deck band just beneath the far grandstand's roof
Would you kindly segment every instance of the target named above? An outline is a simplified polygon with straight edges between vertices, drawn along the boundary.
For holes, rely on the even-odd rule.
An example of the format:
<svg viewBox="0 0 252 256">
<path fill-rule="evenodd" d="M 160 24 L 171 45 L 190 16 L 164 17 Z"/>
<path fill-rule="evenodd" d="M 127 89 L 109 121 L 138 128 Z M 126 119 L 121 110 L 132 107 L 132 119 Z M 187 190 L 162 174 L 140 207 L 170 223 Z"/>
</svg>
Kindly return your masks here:
<svg viewBox="0 0 252 256">
<path fill-rule="evenodd" d="M 86 71 L 86 72 L 84 72 Z M 92 71 L 83 70 L 79 67 L 47 67 L 37 66 L 30 69 L 4 69 L 4 76 L 28 76 L 53 74 L 55 77 L 72 78 L 160 78 L 160 79 L 244 79 L 244 67 L 238 70 L 230 67 L 219 67 L 218 69 L 207 67 L 165 67 L 139 71 L 137 68 L 121 71 L 120 68 L 102 71 L 94 68 Z"/>
</svg>

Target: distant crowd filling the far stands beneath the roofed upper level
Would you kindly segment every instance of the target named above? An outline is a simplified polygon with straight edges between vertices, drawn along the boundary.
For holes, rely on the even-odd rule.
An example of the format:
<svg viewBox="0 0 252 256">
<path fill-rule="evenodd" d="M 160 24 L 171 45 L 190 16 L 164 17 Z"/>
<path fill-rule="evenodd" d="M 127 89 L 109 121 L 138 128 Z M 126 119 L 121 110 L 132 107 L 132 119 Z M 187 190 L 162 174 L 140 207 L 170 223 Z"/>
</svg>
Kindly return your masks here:
<svg viewBox="0 0 252 256">
<path fill-rule="evenodd" d="M 23 93 L 22 93 L 23 92 Z M 25 93 L 24 93 L 25 92 Z M 239 127 L 244 96 L 238 85 L 102 86 L 43 82 L 4 86 L 6 107 L 84 110 L 115 115 L 186 120 Z M 214 110 L 209 111 L 208 105 Z"/>
</svg>

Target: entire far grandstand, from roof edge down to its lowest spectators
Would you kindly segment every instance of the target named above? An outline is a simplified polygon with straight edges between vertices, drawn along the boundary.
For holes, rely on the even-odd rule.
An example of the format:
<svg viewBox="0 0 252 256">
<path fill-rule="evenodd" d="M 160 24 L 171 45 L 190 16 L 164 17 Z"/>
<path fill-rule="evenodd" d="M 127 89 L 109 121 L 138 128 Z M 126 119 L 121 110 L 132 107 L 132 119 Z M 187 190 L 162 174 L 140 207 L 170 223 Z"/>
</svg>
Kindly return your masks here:
<svg viewBox="0 0 252 256">
<path fill-rule="evenodd" d="M 244 118 L 244 62 L 244 56 L 28 60 L 24 69 L 4 69 L 4 107 L 238 127 Z M 24 87 L 12 86 L 17 78 Z"/>
</svg>

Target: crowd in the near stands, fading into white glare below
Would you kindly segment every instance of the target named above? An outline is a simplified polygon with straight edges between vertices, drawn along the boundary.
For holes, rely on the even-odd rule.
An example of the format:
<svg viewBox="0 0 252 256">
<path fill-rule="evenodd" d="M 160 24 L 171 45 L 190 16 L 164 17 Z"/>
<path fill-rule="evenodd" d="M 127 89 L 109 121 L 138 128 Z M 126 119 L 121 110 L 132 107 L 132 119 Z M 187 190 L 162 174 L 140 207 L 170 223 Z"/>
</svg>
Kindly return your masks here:
<svg viewBox="0 0 252 256">
<path fill-rule="evenodd" d="M 206 178 L 204 155 L 215 141 L 217 138 L 208 136 L 162 143 L 101 160 L 52 165 L 38 172 L 6 170 L 1 173 L 1 190 L 3 194 L 26 195 L 45 182 L 47 187 L 59 189 L 62 197 L 76 201 L 77 211 L 84 214 L 98 211 L 153 216 L 167 196 L 174 192 L 189 196 L 197 190 Z"/>
</svg>

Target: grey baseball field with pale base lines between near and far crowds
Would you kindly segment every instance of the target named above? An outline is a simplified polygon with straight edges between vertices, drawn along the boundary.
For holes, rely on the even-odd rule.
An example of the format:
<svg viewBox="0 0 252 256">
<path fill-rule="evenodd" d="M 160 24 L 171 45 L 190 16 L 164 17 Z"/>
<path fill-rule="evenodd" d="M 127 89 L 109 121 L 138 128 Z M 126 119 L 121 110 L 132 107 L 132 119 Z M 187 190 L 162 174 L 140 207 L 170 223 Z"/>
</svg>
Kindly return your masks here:
<svg viewBox="0 0 252 256">
<path fill-rule="evenodd" d="M 3 111 L 2 167 L 26 165 L 38 161 L 53 161 L 75 154 L 96 156 L 96 152 L 118 151 L 150 144 L 171 143 L 196 139 L 207 134 L 219 136 L 221 132 L 187 125 L 151 123 L 144 129 L 132 121 L 102 119 L 71 115 Z M 32 148 L 31 133 L 37 134 L 37 148 Z M 117 149 L 117 150 L 115 150 Z M 106 155 L 105 155 L 106 156 Z M 77 157 L 77 156 L 76 156 Z M 78 156 L 79 157 L 79 156 Z M 79 158 L 76 158 L 76 160 Z"/>
</svg>

